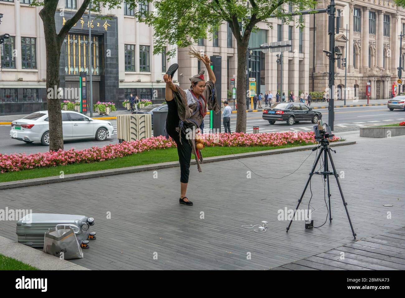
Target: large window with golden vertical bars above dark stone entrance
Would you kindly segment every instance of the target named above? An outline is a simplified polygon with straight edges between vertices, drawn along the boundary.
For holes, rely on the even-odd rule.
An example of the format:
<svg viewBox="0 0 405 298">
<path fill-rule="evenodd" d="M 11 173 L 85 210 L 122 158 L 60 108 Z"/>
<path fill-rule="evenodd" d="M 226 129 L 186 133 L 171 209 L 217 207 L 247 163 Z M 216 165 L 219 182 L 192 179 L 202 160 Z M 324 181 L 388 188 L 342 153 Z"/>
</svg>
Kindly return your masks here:
<svg viewBox="0 0 405 298">
<path fill-rule="evenodd" d="M 100 57 L 98 36 L 92 35 L 92 74 L 100 74 Z M 90 43 L 89 36 L 81 34 L 66 34 L 65 47 L 65 74 L 78 75 L 81 71 L 90 69 Z"/>
</svg>

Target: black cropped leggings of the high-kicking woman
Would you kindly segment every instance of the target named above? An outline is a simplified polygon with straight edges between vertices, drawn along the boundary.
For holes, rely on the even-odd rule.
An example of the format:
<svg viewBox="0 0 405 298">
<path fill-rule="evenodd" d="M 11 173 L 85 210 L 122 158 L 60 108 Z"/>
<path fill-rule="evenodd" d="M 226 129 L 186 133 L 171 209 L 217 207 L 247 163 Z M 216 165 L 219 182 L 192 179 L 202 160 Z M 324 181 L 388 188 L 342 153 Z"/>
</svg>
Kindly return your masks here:
<svg viewBox="0 0 405 298">
<path fill-rule="evenodd" d="M 179 132 L 176 127 L 179 126 L 179 114 L 177 114 L 177 106 L 175 100 L 166 101 L 168 105 L 168 112 L 166 118 L 167 133 L 177 144 L 177 154 L 179 154 L 180 163 L 180 182 L 188 183 L 188 176 L 190 175 L 190 159 L 191 159 L 191 146 L 185 138 L 185 134 L 181 134 L 181 144 Z"/>
</svg>

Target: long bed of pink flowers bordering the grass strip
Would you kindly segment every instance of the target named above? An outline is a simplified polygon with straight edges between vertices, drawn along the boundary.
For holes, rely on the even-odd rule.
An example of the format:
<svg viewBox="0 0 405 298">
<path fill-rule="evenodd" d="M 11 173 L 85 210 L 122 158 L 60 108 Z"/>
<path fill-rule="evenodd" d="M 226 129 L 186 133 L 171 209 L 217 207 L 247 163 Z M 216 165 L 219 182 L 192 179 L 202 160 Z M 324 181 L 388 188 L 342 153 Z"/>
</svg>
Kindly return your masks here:
<svg viewBox="0 0 405 298">
<path fill-rule="evenodd" d="M 203 135 L 205 146 L 282 146 L 294 143 L 315 143 L 313 132 L 286 132 L 286 133 L 260 133 L 245 134 L 232 133 L 219 134 L 219 138 L 210 139 L 208 134 Z M 333 141 L 339 138 L 334 137 Z M 104 147 L 92 147 L 84 150 L 59 150 L 53 152 L 43 152 L 34 154 L 1 154 L 0 172 L 14 172 L 24 169 L 34 169 L 40 167 L 55 167 L 58 165 L 68 165 L 72 163 L 92 163 L 95 161 L 105 161 L 124 157 L 135 153 L 140 153 L 154 149 L 164 149 L 176 147 L 176 143 L 164 136 L 150 137 L 148 139 L 120 144 L 111 144 Z"/>
</svg>

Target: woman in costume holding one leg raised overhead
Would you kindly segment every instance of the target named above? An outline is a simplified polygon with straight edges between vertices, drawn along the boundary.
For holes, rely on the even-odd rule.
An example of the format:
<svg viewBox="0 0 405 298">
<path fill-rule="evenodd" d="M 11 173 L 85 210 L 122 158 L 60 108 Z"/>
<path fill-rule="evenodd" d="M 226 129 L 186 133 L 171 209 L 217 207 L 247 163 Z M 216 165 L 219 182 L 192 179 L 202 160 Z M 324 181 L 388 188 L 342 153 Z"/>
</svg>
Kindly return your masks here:
<svg viewBox="0 0 405 298">
<path fill-rule="evenodd" d="M 166 138 L 170 136 L 177 144 L 177 153 L 180 163 L 180 204 L 192 206 L 193 203 L 185 196 L 188 185 L 188 176 L 190 174 L 191 153 L 195 155 L 198 172 L 201 172 L 200 161 L 203 161 L 201 152 L 196 148 L 196 134 L 203 133 L 199 131 L 201 122 L 209 110 L 217 113 L 221 110 L 216 100 L 215 94 L 215 75 L 210 66 L 210 60 L 207 55 L 199 58 L 205 64 L 209 80 L 205 82 L 204 71 L 190 78 L 191 86 L 188 90 L 182 90 L 179 86 L 173 84 L 173 73 L 177 70 L 177 65 L 169 67 L 168 72 L 163 76 L 166 82 L 166 103 L 168 105 L 168 114 L 166 118 Z M 192 135 L 192 137 L 186 137 Z M 197 139 L 199 137 L 196 137 Z"/>
</svg>

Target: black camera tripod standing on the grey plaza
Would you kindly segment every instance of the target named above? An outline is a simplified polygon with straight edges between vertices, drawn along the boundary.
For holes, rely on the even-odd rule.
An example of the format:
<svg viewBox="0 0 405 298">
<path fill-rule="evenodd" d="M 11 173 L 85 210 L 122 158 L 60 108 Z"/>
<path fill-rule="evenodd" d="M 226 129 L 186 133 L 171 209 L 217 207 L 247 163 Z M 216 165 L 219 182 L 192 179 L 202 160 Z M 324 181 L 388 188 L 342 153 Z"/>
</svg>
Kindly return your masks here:
<svg viewBox="0 0 405 298">
<path fill-rule="evenodd" d="M 312 149 L 312 151 L 317 150 L 318 148 L 321 148 L 318 157 L 315 160 L 315 163 L 313 164 L 311 173 L 309 173 L 309 178 L 307 181 L 307 184 L 305 185 L 304 191 L 300 197 L 300 199 L 298 200 L 298 205 L 294 210 L 294 216 L 292 217 L 290 224 L 287 227 L 287 232 L 290 229 L 290 226 L 292 224 L 293 219 L 295 218 L 295 213 L 298 210 L 298 207 L 300 206 L 302 199 L 304 197 L 305 191 L 307 190 L 307 187 L 309 185 L 309 182 L 311 181 L 311 178 L 314 174 L 316 175 L 323 175 L 324 179 L 326 179 L 326 183 L 328 185 L 328 203 L 329 203 L 329 222 L 332 222 L 332 213 L 330 210 L 330 189 L 329 189 L 329 176 L 333 175 L 336 178 L 336 182 L 337 182 L 337 186 L 339 187 L 339 191 L 340 191 L 340 196 L 342 197 L 343 200 L 343 206 L 345 206 L 345 210 L 346 210 L 346 214 L 347 214 L 347 219 L 349 219 L 349 223 L 350 223 L 350 227 L 352 228 L 352 233 L 353 233 L 353 237 L 356 238 L 356 233 L 354 233 L 354 229 L 353 229 L 353 225 L 352 225 L 352 221 L 350 220 L 350 216 L 349 216 L 349 211 L 347 210 L 347 203 L 345 201 L 345 198 L 343 197 L 343 192 L 342 192 L 342 188 L 340 187 L 340 183 L 338 180 L 339 175 L 336 172 L 336 168 L 335 168 L 335 164 L 333 163 L 333 159 L 332 159 L 332 155 L 330 154 L 330 151 L 333 151 L 336 153 L 335 150 L 331 149 L 330 147 L 328 147 L 329 145 L 329 140 L 328 137 L 332 137 L 333 135 L 324 135 L 322 139 L 320 139 L 318 146 L 316 146 L 315 148 Z M 324 154 L 324 170 L 322 172 L 315 172 L 315 168 L 318 165 L 319 159 L 322 156 L 322 153 Z M 330 165 L 332 166 L 333 172 L 329 172 L 328 169 L 328 157 L 330 160 Z"/>
</svg>

